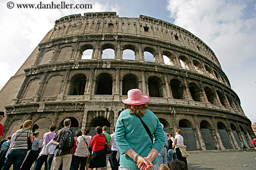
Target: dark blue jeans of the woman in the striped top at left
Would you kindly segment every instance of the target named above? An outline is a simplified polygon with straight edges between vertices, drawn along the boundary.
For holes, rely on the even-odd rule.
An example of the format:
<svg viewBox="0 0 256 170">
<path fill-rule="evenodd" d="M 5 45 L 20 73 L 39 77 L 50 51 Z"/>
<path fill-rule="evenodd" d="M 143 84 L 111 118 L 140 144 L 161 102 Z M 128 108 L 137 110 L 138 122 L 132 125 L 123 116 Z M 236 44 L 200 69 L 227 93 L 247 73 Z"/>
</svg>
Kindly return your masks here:
<svg viewBox="0 0 256 170">
<path fill-rule="evenodd" d="M 12 149 L 6 158 L 2 170 L 9 170 L 13 164 L 13 170 L 20 170 L 20 167 L 27 155 L 27 149 Z"/>
</svg>

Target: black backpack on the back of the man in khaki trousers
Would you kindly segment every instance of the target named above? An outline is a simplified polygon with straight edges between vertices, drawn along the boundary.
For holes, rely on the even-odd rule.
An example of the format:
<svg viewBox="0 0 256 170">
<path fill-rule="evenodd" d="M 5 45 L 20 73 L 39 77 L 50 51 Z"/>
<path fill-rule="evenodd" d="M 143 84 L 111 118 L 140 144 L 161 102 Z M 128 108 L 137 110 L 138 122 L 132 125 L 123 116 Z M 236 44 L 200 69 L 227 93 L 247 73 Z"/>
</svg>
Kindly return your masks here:
<svg viewBox="0 0 256 170">
<path fill-rule="evenodd" d="M 74 135 L 70 128 L 63 132 L 61 135 L 61 140 L 59 143 L 59 148 L 61 150 L 68 150 L 74 147 Z"/>
</svg>

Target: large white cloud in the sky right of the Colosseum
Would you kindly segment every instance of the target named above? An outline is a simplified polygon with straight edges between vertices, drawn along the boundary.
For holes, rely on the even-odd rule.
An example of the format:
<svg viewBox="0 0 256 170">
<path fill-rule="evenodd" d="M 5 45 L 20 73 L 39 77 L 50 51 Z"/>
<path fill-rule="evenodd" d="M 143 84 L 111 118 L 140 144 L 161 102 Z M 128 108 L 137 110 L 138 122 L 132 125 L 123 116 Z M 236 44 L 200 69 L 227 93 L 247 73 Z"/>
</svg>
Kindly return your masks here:
<svg viewBox="0 0 256 170">
<path fill-rule="evenodd" d="M 190 31 L 215 51 L 241 99 L 245 114 L 255 121 L 252 106 L 256 86 L 251 82 L 256 81 L 255 69 L 252 69 L 256 64 L 256 17 L 248 13 L 245 16 L 248 2 L 168 0 L 167 9 L 175 25 Z"/>
</svg>

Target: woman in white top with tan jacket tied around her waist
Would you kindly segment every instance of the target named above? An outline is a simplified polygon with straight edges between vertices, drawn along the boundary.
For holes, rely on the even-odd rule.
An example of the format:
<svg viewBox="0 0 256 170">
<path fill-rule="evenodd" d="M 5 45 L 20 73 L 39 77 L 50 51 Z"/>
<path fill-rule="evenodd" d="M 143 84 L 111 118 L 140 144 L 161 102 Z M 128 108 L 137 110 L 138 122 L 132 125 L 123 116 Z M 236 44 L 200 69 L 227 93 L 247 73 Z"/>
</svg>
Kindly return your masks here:
<svg viewBox="0 0 256 170">
<path fill-rule="evenodd" d="M 186 166 L 188 167 L 187 157 L 189 156 L 188 152 L 186 151 L 186 146 L 183 144 L 183 137 L 181 135 L 181 130 L 177 129 L 175 131 L 176 135 L 174 138 L 174 145 L 176 149 L 177 158 L 183 161 Z"/>
</svg>

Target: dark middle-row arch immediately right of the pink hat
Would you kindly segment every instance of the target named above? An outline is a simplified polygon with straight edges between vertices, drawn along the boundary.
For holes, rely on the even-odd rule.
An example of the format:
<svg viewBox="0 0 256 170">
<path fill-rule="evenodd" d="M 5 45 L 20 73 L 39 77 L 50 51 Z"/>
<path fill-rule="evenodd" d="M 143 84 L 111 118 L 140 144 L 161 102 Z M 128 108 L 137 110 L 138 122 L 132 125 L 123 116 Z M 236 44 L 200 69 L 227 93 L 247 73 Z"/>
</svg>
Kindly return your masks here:
<svg viewBox="0 0 256 170">
<path fill-rule="evenodd" d="M 157 76 L 148 78 L 149 97 L 163 97 L 162 80 Z"/>
</svg>

